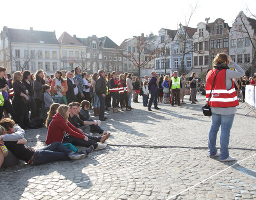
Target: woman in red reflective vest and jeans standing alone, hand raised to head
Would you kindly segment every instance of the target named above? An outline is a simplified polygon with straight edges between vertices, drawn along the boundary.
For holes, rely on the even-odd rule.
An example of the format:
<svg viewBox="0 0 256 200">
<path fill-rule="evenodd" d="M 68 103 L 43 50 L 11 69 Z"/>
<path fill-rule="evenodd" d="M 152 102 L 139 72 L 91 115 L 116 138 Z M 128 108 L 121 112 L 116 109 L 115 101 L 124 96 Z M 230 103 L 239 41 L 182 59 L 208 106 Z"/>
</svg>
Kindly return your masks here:
<svg viewBox="0 0 256 200">
<path fill-rule="evenodd" d="M 230 70 L 231 65 L 235 70 Z M 218 74 L 217 74 L 217 71 Z M 213 80 L 216 75 L 214 85 Z M 212 111 L 212 123 L 208 132 L 208 148 L 210 157 L 220 156 L 220 161 L 234 161 L 235 158 L 229 156 L 229 133 L 233 125 L 236 106 L 238 105 L 236 90 L 232 78 L 239 78 L 244 75 L 244 71 L 239 67 L 229 55 L 219 53 L 214 59 L 213 69 L 207 74 L 206 81 L 206 101 L 211 93 L 209 105 Z M 213 85 L 213 87 L 212 87 Z M 216 148 L 217 132 L 221 126 L 220 153 Z"/>
</svg>

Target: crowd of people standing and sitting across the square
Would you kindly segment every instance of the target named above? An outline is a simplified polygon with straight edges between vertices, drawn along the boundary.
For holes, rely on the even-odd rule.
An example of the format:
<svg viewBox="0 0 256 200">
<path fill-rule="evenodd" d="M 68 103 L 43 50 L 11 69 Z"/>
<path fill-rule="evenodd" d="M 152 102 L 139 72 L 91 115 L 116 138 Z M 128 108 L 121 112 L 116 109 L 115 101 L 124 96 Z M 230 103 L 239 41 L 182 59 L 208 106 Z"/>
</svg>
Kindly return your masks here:
<svg viewBox="0 0 256 200">
<path fill-rule="evenodd" d="M 225 61 L 231 63 L 230 58 L 229 60 L 226 58 Z M 239 71 L 234 62 L 233 65 Z M 210 71 L 212 73 L 214 70 L 207 71 L 208 77 L 206 76 L 206 78 L 211 75 Z M 244 76 L 241 79 L 239 77 L 242 72 L 241 70 L 239 72 L 239 75 L 235 74 L 234 77 L 233 73 L 230 73 L 228 78 L 234 78 L 233 86 L 236 92 L 239 90 L 243 92 L 242 101 L 244 101 L 245 86 L 255 84 L 256 77 L 248 79 L 247 76 Z M 80 67 L 76 67 L 73 71 L 57 70 L 54 75 L 49 77 L 43 70 L 37 70 L 35 75 L 31 74 L 29 70 L 15 71 L 11 78 L 10 74 L 6 74 L 6 68 L 0 67 L 0 113 L 2 118 L 0 121 L 0 145 L 5 144 L 15 157 L 34 165 L 59 159 L 84 158 L 92 150 L 107 146 L 105 141 L 109 138 L 110 133 L 100 127 L 101 121 L 107 119 L 105 110 L 113 110 L 113 113 L 124 112 L 124 110 L 131 111 L 133 109 L 131 101 L 139 103 L 139 95 L 142 95 L 143 106 L 147 107 L 148 111 L 152 111 L 153 102 L 156 110 L 161 109 L 158 107 L 158 103 L 181 106 L 186 104 L 184 97 L 187 86 L 190 88 L 191 104 L 195 104 L 197 101 L 198 88 L 199 91 L 202 89 L 206 92 L 207 96 L 207 84 L 206 87 L 203 83 L 198 86 L 195 72 L 191 73 L 188 79 L 185 76 L 185 74 L 178 76 L 178 71 L 174 71 L 172 76 L 159 76 L 152 71 L 151 77 L 146 75 L 140 81 L 140 77 L 135 77 L 132 73 L 126 72 L 117 77 L 116 71 L 106 74 L 105 70 L 99 70 L 98 73 L 89 76 L 86 72 L 82 72 Z M 210 77 L 212 78 L 212 75 Z M 236 94 L 238 95 L 238 93 Z M 98 120 L 90 117 L 89 109 L 93 109 L 93 115 L 99 117 Z M 215 111 L 218 113 L 218 108 L 213 108 L 213 113 Z M 25 146 L 24 129 L 28 129 L 29 122 L 38 117 L 46 121 L 45 143 L 47 147 L 34 150 Z M 217 134 L 212 133 L 213 126 L 215 125 L 211 126 L 209 135 Z M 97 132 L 100 136 L 95 137 L 92 132 Z M 209 149 L 210 156 L 214 157 L 218 154 L 212 140 L 214 139 L 209 139 L 211 141 Z M 69 146 L 65 146 L 67 143 Z M 78 151 L 74 150 L 75 145 L 88 149 L 76 153 Z M 52 154 L 53 158 L 46 161 L 40 157 L 41 153 L 39 152 L 41 151 L 45 155 Z M 1 166 L 6 155 L 3 155 L 2 151 L 0 153 Z M 221 157 L 226 159 L 227 152 L 225 151 L 223 154 Z"/>
</svg>

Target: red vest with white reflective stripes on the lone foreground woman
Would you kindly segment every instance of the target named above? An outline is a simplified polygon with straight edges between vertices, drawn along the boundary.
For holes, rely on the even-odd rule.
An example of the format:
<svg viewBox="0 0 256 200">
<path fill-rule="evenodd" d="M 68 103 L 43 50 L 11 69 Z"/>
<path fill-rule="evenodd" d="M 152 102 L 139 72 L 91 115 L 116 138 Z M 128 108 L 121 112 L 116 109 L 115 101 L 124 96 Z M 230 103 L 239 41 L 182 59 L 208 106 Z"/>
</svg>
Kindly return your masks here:
<svg viewBox="0 0 256 200">
<path fill-rule="evenodd" d="M 215 82 L 212 88 L 212 83 L 217 69 L 210 70 L 207 74 L 207 82 L 205 86 L 206 91 L 206 101 L 208 101 L 209 94 L 212 88 L 212 95 L 209 102 L 211 107 L 235 107 L 239 105 L 236 95 L 236 90 L 234 83 L 232 81 L 232 87 L 230 90 L 227 90 L 226 87 L 226 70 L 221 69 L 215 78 Z"/>
</svg>

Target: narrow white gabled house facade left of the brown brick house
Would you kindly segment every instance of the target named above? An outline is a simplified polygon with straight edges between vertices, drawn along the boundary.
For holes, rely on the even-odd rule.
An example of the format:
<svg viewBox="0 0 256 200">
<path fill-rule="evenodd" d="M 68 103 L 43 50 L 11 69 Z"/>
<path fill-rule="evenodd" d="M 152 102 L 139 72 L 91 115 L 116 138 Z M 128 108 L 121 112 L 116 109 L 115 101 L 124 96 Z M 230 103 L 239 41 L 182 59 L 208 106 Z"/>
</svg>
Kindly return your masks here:
<svg viewBox="0 0 256 200">
<path fill-rule="evenodd" d="M 206 29 L 206 23 L 200 22 L 197 31 L 193 35 L 193 68 L 209 68 L 210 33 Z"/>
</svg>

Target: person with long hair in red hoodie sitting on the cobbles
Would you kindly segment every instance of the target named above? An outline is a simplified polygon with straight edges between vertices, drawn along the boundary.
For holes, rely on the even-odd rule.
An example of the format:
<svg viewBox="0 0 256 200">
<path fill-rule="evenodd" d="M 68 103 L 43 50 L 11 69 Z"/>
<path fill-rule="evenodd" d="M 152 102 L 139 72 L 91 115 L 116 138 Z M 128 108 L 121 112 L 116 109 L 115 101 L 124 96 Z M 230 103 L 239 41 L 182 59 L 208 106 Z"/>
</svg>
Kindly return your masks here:
<svg viewBox="0 0 256 200">
<path fill-rule="evenodd" d="M 85 136 L 79 129 L 68 121 L 70 108 L 66 105 L 60 105 L 57 113 L 52 117 L 52 122 L 49 124 L 45 143 L 50 145 L 53 142 L 71 143 L 83 147 L 93 145 L 94 149 L 103 149 L 107 147 L 105 143 L 108 139 L 107 135 L 102 137 Z M 101 142 L 101 143 L 97 143 Z"/>
</svg>

